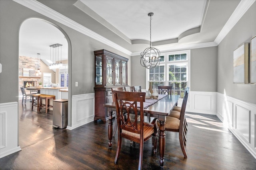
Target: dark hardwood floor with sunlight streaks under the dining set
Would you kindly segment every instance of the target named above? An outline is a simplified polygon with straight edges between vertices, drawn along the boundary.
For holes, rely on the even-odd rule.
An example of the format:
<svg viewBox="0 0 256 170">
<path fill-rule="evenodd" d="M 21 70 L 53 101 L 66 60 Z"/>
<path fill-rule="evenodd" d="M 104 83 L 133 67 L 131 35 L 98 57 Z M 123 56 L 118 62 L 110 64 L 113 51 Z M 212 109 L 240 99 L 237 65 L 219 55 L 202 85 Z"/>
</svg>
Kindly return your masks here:
<svg viewBox="0 0 256 170">
<path fill-rule="evenodd" d="M 118 164 L 114 164 L 117 134 L 108 149 L 108 123 L 94 121 L 72 131 L 52 127 L 52 111 L 31 111 L 19 102 L 20 152 L 0 159 L 1 170 L 80 170 L 138 168 L 139 146 L 123 140 Z M 36 108 L 34 109 L 36 110 Z M 256 159 L 223 127 L 216 115 L 186 113 L 188 133 L 184 158 L 178 133 L 166 132 L 163 169 L 172 170 L 255 170 Z M 143 169 L 159 167 L 159 153 L 151 156 L 151 140 L 144 144 Z M 135 166 L 133 166 L 135 165 Z"/>
</svg>

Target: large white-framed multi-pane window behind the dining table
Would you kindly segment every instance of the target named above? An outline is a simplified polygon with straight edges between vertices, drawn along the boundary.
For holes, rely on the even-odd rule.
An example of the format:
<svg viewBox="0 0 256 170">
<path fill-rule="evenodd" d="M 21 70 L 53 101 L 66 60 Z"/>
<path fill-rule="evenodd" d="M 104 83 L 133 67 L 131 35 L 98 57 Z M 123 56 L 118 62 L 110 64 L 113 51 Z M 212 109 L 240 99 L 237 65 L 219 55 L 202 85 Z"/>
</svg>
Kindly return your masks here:
<svg viewBox="0 0 256 170">
<path fill-rule="evenodd" d="M 189 86 L 190 78 L 190 50 L 161 53 L 160 65 L 146 69 L 148 89 L 149 82 L 152 88 L 157 86 L 172 86 L 172 94 L 184 97 L 184 90 Z"/>
</svg>

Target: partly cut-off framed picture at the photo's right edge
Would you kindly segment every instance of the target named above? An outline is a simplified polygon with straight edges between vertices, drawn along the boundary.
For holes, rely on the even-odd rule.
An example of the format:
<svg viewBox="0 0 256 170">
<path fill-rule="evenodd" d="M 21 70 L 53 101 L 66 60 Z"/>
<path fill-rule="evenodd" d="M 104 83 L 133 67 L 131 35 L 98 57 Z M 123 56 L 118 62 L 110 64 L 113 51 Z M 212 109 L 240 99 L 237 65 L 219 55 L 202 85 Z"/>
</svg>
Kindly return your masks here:
<svg viewBox="0 0 256 170">
<path fill-rule="evenodd" d="M 250 42 L 250 84 L 256 84 L 256 35 Z"/>
</svg>

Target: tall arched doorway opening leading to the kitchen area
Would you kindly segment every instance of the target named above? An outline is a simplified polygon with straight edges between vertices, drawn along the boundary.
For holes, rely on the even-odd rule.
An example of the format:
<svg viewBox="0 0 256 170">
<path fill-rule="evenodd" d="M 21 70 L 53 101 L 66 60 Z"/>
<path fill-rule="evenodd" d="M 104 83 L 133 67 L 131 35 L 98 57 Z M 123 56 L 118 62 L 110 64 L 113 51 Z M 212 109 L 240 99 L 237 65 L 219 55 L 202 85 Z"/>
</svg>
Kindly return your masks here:
<svg viewBox="0 0 256 170">
<path fill-rule="evenodd" d="M 53 59 L 50 46 L 61 45 L 60 58 Z M 70 40 L 66 33 L 54 23 L 40 18 L 29 18 L 20 26 L 19 33 L 19 87 L 24 86 L 24 81 L 34 82 L 33 86 L 50 86 L 49 83 L 59 84 L 68 89 L 68 48 Z M 40 59 L 38 55 L 40 54 Z M 60 68 L 50 69 L 49 65 L 58 60 L 63 63 Z M 38 62 L 39 61 L 39 62 Z M 41 70 L 41 75 L 36 75 L 36 70 Z M 63 79 L 64 74 L 64 79 Z M 46 77 L 48 76 L 48 79 Z M 50 76 L 49 76 L 50 75 Z M 50 78 L 49 78 L 50 77 Z M 28 93 L 30 91 L 27 90 Z M 68 99 L 68 91 L 65 95 Z M 19 94 L 19 144 L 20 147 L 32 145 L 46 139 L 57 131 L 52 127 L 52 112 L 37 112 L 31 109 L 29 99 L 22 104 L 22 94 Z"/>
</svg>

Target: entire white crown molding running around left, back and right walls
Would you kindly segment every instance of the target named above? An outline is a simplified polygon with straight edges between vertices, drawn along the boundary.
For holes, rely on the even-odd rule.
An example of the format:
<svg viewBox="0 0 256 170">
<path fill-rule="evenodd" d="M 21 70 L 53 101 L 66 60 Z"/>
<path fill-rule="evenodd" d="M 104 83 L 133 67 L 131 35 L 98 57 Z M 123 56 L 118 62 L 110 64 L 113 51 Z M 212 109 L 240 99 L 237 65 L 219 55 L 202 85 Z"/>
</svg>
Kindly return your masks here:
<svg viewBox="0 0 256 170">
<path fill-rule="evenodd" d="M 84 27 L 83 25 L 71 20 L 70 18 L 52 10 L 48 6 L 45 6 L 44 4 L 36 1 L 36 0 L 13 0 L 14 2 L 21 4 L 31 10 L 34 10 L 35 12 L 38 12 L 39 14 L 42 14 L 48 18 L 51 18 L 52 20 L 58 21 L 62 23 L 63 25 L 66 25 L 76 31 L 79 31 L 80 33 L 87 35 L 88 37 L 91 37 L 97 41 L 100 41 L 110 47 L 113 47 L 114 49 L 121 51 L 127 55 L 135 56 L 140 55 L 141 52 L 134 52 L 125 49 L 124 47 L 121 47 L 120 45 L 110 41 L 109 39 L 106 39 L 105 37 L 99 35 L 98 33 L 95 33 L 94 31 Z M 213 47 L 217 46 L 222 39 L 228 34 L 228 32 L 234 27 L 234 25 L 240 20 L 240 18 L 244 15 L 244 13 L 252 6 L 252 4 L 256 0 L 241 0 L 241 2 L 238 4 L 237 8 L 234 10 L 233 14 L 230 16 L 214 42 L 209 43 L 200 43 L 200 44 L 193 44 L 193 45 L 184 45 L 179 47 L 159 47 L 158 49 L 161 52 L 164 51 L 174 51 L 174 50 L 183 50 L 183 49 L 195 49 L 195 48 L 203 48 L 203 47 Z M 136 42 L 136 41 L 134 41 Z M 138 43 L 138 42 L 137 42 Z"/>
</svg>

